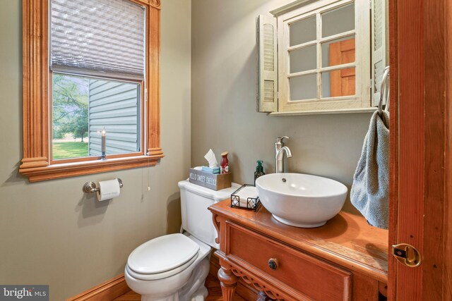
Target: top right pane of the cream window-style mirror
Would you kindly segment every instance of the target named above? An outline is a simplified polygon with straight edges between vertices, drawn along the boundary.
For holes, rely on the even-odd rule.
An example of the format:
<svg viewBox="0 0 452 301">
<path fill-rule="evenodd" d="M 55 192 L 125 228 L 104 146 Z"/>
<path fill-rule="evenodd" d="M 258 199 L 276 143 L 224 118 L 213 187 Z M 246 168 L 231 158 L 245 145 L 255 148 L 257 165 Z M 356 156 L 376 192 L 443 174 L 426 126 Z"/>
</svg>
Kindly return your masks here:
<svg viewBox="0 0 452 301">
<path fill-rule="evenodd" d="M 355 4 L 348 4 L 322 13 L 322 37 L 355 29 Z"/>
</svg>

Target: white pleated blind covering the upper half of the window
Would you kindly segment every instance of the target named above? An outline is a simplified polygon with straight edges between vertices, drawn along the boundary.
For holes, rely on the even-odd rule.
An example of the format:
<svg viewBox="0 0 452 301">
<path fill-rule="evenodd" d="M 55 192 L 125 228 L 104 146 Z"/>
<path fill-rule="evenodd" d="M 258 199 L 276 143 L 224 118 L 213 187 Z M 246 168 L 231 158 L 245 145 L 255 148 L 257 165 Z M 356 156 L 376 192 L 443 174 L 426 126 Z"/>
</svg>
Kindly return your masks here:
<svg viewBox="0 0 452 301">
<path fill-rule="evenodd" d="M 54 71 L 143 79 L 145 8 L 127 0 L 52 0 Z"/>
</svg>

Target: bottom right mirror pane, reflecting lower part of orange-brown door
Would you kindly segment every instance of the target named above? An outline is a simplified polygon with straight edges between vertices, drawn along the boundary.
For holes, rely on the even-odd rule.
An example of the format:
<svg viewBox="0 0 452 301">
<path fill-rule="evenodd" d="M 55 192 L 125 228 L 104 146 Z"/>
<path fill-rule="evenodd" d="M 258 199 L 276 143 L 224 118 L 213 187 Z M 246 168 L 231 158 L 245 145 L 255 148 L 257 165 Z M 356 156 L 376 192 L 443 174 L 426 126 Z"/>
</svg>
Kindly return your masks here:
<svg viewBox="0 0 452 301">
<path fill-rule="evenodd" d="M 355 68 L 321 73 L 322 98 L 355 95 Z"/>
</svg>

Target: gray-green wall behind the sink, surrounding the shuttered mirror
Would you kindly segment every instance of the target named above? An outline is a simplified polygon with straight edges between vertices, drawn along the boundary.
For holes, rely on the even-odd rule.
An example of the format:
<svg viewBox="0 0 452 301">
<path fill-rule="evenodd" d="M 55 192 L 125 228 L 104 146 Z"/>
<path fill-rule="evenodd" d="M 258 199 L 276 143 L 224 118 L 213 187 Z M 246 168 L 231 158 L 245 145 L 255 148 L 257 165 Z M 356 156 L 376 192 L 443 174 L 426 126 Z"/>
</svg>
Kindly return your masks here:
<svg viewBox="0 0 452 301">
<path fill-rule="evenodd" d="M 274 172 L 274 142 L 290 136 L 289 170 L 339 180 L 350 188 L 369 113 L 267 116 L 256 113 L 256 16 L 287 4 L 277 0 L 192 2 L 191 163 L 212 148 L 230 151 L 237 183 L 253 183 L 256 160 Z M 350 201 L 344 207 L 357 213 Z"/>
</svg>

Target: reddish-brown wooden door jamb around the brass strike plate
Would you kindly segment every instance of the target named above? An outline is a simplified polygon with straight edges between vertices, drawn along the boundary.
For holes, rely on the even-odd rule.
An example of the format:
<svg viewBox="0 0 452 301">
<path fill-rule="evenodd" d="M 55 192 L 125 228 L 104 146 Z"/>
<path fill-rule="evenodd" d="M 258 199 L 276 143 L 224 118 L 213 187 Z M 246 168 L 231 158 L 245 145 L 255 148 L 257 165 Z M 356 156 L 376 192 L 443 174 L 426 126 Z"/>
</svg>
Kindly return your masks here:
<svg viewBox="0 0 452 301">
<path fill-rule="evenodd" d="M 389 0 L 389 244 L 422 254 L 415 268 L 390 254 L 390 300 L 452 300 L 451 8 L 449 0 Z"/>
</svg>

